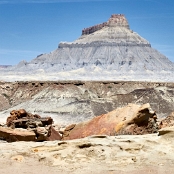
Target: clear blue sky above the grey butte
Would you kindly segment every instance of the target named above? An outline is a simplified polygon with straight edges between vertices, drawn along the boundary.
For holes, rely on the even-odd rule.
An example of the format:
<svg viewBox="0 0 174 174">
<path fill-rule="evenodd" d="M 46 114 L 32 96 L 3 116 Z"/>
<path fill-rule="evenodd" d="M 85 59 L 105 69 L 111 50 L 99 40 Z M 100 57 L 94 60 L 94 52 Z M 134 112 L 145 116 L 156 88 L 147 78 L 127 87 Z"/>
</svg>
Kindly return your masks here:
<svg viewBox="0 0 174 174">
<path fill-rule="evenodd" d="M 0 65 L 49 53 L 111 14 L 174 62 L 174 0 L 0 0 Z"/>
</svg>

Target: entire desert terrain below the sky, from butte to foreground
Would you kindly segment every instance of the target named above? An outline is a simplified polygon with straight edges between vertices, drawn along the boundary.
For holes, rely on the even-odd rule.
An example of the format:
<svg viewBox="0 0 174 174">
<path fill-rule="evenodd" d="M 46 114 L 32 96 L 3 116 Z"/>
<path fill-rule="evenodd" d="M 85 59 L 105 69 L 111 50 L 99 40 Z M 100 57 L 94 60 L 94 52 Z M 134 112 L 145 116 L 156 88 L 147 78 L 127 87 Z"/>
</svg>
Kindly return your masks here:
<svg viewBox="0 0 174 174">
<path fill-rule="evenodd" d="M 0 72 L 1 173 L 172 173 L 174 64 L 124 15 Z"/>
</svg>

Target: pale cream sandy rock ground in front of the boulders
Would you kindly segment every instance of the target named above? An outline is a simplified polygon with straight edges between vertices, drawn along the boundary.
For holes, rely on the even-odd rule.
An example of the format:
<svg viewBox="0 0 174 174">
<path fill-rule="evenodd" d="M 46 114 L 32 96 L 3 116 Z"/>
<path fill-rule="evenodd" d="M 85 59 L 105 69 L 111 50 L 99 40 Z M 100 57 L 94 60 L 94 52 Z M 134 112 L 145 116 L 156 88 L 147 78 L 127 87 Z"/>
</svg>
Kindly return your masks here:
<svg viewBox="0 0 174 174">
<path fill-rule="evenodd" d="M 171 174 L 172 136 L 93 136 L 52 142 L 0 142 L 0 173 Z"/>
</svg>

